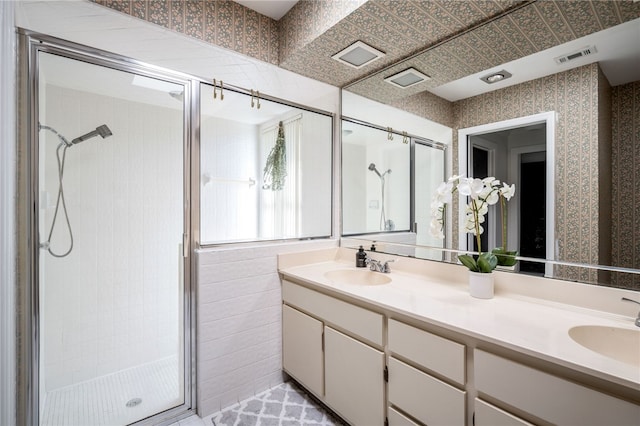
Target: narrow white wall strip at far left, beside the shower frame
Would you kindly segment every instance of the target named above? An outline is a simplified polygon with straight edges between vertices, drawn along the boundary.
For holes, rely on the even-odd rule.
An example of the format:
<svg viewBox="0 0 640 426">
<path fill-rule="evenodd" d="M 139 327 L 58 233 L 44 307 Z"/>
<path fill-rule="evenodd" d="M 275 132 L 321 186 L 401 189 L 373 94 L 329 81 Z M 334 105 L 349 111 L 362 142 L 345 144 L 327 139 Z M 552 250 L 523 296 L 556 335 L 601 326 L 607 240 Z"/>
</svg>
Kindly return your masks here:
<svg viewBox="0 0 640 426">
<path fill-rule="evenodd" d="M 15 424 L 16 40 L 13 2 L 0 2 L 0 424 Z"/>
</svg>

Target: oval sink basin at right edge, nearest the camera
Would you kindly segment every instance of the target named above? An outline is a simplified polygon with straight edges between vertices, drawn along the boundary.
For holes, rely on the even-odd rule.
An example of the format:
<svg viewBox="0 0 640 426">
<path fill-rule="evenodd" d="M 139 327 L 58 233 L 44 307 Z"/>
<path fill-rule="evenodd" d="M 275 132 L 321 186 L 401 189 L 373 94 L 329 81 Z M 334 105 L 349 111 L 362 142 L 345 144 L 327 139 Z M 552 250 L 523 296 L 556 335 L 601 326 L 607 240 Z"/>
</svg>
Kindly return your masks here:
<svg viewBox="0 0 640 426">
<path fill-rule="evenodd" d="M 600 355 L 640 367 L 640 328 L 580 325 L 571 328 L 569 336 Z"/>
</svg>

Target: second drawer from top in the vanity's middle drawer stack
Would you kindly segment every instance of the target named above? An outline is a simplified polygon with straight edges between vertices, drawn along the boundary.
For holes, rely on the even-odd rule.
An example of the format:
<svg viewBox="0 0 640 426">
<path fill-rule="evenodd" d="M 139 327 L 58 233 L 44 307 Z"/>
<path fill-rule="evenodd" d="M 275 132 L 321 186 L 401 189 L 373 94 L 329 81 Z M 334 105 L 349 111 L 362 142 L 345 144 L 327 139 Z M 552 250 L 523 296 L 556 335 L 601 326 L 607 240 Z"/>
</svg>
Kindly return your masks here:
<svg viewBox="0 0 640 426">
<path fill-rule="evenodd" d="M 427 425 L 464 425 L 466 392 L 389 358 L 389 403 Z"/>
</svg>

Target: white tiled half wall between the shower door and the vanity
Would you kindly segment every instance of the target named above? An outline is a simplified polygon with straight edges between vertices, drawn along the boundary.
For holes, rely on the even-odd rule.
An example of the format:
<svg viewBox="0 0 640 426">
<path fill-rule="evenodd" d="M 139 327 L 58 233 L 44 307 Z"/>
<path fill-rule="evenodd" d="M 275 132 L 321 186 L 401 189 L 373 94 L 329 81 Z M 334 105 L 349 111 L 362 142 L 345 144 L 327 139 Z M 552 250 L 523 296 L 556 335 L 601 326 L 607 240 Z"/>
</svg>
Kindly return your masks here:
<svg viewBox="0 0 640 426">
<path fill-rule="evenodd" d="M 198 252 L 201 417 L 282 383 L 277 255 L 337 245 L 337 240 L 318 240 Z"/>
</svg>

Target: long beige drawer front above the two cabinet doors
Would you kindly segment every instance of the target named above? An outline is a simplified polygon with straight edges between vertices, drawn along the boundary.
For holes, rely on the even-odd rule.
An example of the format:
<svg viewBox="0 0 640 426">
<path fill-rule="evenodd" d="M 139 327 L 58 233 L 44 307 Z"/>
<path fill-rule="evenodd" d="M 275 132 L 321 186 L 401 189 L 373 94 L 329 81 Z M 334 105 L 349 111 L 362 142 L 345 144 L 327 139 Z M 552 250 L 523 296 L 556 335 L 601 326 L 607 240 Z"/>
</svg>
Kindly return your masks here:
<svg viewBox="0 0 640 426">
<path fill-rule="evenodd" d="M 383 345 L 383 316 L 342 300 L 282 281 L 282 299 L 288 305 L 314 315 L 378 347 Z"/>
</svg>

